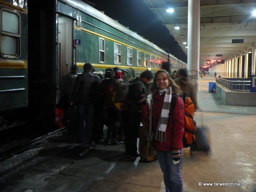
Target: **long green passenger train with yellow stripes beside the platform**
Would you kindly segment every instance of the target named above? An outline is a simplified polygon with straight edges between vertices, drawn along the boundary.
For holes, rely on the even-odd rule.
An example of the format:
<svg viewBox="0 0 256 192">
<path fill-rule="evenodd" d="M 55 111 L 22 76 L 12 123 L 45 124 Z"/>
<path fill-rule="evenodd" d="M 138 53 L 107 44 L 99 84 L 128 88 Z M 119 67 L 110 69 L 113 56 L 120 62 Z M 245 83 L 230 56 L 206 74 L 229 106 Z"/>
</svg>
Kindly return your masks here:
<svg viewBox="0 0 256 192">
<path fill-rule="evenodd" d="M 0 0 L 0 124 L 36 119 L 38 126 L 52 125 L 72 66 L 77 74 L 91 63 L 99 71 L 132 68 L 138 76 L 146 69 L 155 73 L 163 61 L 170 70 L 187 68 L 87 3 Z"/>
</svg>

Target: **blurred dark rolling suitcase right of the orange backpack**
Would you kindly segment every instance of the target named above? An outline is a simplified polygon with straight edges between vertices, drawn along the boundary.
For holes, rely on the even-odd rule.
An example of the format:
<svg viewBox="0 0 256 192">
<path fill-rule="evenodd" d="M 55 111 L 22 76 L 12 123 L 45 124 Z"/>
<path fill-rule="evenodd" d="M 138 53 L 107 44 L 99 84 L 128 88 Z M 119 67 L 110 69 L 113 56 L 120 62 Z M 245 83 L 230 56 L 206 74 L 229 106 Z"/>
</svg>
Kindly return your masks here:
<svg viewBox="0 0 256 192">
<path fill-rule="evenodd" d="M 196 142 L 195 145 L 190 146 L 191 151 L 204 151 L 208 153 L 211 151 L 210 147 L 210 134 L 209 128 L 207 126 L 197 126 L 196 127 Z"/>
</svg>

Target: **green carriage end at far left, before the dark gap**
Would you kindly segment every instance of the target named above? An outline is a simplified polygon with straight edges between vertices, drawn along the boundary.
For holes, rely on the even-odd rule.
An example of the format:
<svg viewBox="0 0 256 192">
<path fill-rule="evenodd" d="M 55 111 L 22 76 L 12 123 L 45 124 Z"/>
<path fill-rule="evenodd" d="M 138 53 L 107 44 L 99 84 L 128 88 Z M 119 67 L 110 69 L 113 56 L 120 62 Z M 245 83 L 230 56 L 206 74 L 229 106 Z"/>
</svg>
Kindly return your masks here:
<svg viewBox="0 0 256 192">
<path fill-rule="evenodd" d="M 0 0 L 0 123 L 28 107 L 27 14 L 26 0 Z"/>
</svg>

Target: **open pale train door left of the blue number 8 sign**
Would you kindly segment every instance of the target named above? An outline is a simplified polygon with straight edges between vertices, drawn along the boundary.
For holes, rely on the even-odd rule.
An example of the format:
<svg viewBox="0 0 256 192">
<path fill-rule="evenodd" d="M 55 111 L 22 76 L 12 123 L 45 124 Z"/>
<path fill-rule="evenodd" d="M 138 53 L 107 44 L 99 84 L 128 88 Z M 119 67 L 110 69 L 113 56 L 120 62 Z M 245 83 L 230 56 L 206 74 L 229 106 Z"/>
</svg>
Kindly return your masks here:
<svg viewBox="0 0 256 192">
<path fill-rule="evenodd" d="M 72 51 L 73 51 L 73 20 L 58 15 L 57 40 L 58 40 L 58 59 L 57 59 L 57 94 L 56 104 L 59 103 L 61 90 L 65 86 L 65 76 L 70 72 L 72 66 Z"/>
</svg>

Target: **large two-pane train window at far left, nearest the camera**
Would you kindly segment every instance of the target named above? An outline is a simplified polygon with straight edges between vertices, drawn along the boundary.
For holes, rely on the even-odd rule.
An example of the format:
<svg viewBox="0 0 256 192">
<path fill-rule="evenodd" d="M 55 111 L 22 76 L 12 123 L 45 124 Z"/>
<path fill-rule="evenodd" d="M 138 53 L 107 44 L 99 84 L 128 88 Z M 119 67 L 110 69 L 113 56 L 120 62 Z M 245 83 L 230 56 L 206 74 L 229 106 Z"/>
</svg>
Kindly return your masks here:
<svg viewBox="0 0 256 192">
<path fill-rule="evenodd" d="M 16 12 L 2 10 L 1 26 L 2 56 L 18 57 L 20 55 L 20 16 Z"/>
</svg>

